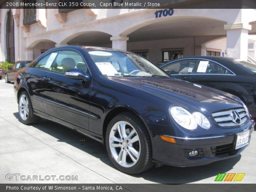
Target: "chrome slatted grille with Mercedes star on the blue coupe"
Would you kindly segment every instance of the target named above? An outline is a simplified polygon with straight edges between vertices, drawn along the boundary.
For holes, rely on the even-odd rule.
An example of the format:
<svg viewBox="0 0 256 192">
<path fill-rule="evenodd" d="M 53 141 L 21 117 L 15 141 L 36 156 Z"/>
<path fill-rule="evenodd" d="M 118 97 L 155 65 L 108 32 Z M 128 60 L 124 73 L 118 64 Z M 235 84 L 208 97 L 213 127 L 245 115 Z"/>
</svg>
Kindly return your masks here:
<svg viewBox="0 0 256 192">
<path fill-rule="evenodd" d="M 244 108 L 230 109 L 212 114 L 219 126 L 238 126 L 246 122 L 248 116 Z"/>
</svg>

